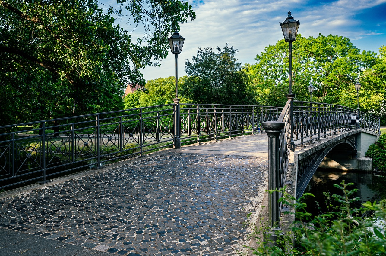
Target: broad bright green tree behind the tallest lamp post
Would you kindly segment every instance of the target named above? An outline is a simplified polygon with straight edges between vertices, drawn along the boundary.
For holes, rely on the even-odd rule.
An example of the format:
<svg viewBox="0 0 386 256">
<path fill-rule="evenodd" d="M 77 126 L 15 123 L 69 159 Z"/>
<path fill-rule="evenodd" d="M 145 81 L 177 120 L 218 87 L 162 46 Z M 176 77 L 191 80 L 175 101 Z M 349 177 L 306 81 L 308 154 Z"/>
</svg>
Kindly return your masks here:
<svg viewBox="0 0 386 256">
<path fill-rule="evenodd" d="M 258 87 L 255 91 L 260 93 L 274 91 L 274 95 L 280 97 L 280 105 L 283 105 L 286 98 L 280 94 L 283 91 L 288 93 L 288 43 L 279 40 L 276 45 L 269 45 L 256 56 L 256 60 L 256 65 L 249 67 L 250 83 Z M 309 100 L 308 85 L 312 83 L 315 86 L 315 101 L 356 108 L 353 84 L 362 79 L 376 61 L 376 53 L 361 52 L 348 38 L 321 34 L 317 38 L 304 38 L 298 35 L 293 43 L 292 55 L 292 90 L 296 100 Z M 371 93 L 361 97 L 364 103 L 371 98 Z M 369 105 L 362 104 L 361 109 L 367 110 Z"/>
</svg>

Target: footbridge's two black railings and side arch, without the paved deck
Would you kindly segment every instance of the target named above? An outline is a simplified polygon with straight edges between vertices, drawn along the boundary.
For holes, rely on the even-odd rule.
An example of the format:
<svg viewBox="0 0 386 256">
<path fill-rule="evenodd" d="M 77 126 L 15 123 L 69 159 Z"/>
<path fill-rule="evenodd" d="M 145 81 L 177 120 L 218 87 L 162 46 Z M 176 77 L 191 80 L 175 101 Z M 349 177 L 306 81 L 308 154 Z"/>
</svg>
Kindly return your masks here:
<svg viewBox="0 0 386 256">
<path fill-rule="evenodd" d="M 321 164 L 363 169 L 364 154 L 379 128 L 379 118 L 366 113 L 292 99 L 284 108 L 169 104 L 2 126 L 0 189 L 44 184 L 69 171 L 103 168 L 163 148 L 266 133 L 268 189 L 287 185 L 299 197 Z M 344 155 L 345 163 L 328 158 L 333 151 Z M 280 196 L 269 196 L 273 230 L 280 230 Z"/>
</svg>

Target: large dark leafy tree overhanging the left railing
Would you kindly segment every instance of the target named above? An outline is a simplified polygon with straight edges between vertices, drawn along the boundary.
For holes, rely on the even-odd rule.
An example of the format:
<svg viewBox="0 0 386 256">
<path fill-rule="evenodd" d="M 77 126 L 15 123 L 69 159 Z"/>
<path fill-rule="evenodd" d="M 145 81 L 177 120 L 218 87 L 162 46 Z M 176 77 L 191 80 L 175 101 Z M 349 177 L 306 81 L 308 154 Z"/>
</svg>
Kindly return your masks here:
<svg viewBox="0 0 386 256">
<path fill-rule="evenodd" d="M 124 85 L 144 85 L 141 69 L 159 65 L 168 54 L 164 38 L 195 14 L 179 0 L 117 3 L 134 25 L 144 25 L 144 38 L 133 40 L 114 25 L 113 15 L 125 12 L 102 10 L 97 0 L 0 0 L 0 89 L 8 89 L 7 97 L 12 98 L 27 91 L 32 106 L 39 100 L 49 105 L 42 97 L 46 95 L 54 103 L 40 108 L 43 118 L 123 108 Z M 33 120 L 34 108 L 24 101 L 17 98 L 9 107 L 2 106 L 14 111 L 7 114 L 7 122 Z M 21 118 L 23 111 L 29 113 L 27 119 Z"/>
</svg>

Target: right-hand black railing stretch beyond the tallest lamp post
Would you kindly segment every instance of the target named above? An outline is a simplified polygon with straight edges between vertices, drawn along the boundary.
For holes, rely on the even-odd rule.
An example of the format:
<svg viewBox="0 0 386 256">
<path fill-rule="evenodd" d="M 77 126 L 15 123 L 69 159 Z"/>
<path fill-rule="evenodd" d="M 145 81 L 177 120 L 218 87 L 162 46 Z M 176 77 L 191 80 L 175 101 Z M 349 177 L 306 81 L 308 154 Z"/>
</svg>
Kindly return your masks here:
<svg viewBox="0 0 386 256">
<path fill-rule="evenodd" d="M 295 145 L 319 140 L 340 131 L 363 128 L 379 133 L 379 119 L 340 105 L 293 101 Z"/>
</svg>

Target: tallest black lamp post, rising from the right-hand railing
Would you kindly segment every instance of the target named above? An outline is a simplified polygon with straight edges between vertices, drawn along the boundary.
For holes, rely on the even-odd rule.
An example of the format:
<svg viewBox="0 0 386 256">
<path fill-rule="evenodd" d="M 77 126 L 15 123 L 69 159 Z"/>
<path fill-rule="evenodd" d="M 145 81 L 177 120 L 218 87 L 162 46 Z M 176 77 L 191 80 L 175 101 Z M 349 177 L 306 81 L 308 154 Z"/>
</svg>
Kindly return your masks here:
<svg viewBox="0 0 386 256">
<path fill-rule="evenodd" d="M 296 41 L 296 35 L 298 34 L 300 22 L 296 21 L 291 12 L 288 11 L 288 17 L 283 23 L 280 22 L 281 30 L 283 30 L 284 41 L 289 43 L 289 92 L 286 94 L 288 100 L 291 100 L 290 116 L 291 116 L 291 131 L 293 130 L 293 111 L 292 100 L 295 98 L 295 94 L 292 93 L 292 42 Z M 295 150 L 295 142 L 293 141 L 293 135 L 291 132 L 291 150 Z"/>
</svg>

